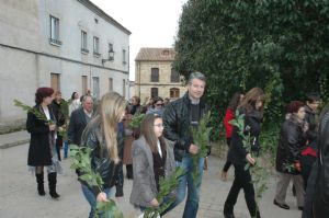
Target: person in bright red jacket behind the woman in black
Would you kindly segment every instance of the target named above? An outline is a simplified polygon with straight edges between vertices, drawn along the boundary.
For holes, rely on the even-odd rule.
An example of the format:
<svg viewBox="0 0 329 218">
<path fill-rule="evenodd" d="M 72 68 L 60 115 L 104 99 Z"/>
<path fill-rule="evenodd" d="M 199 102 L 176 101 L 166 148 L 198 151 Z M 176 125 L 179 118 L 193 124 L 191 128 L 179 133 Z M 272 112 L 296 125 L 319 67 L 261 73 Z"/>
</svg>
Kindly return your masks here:
<svg viewBox="0 0 329 218">
<path fill-rule="evenodd" d="M 235 118 L 236 110 L 237 110 L 238 105 L 241 103 L 242 99 L 243 99 L 243 94 L 241 94 L 240 92 L 236 92 L 232 95 L 231 100 L 229 101 L 228 107 L 225 113 L 223 123 L 224 123 L 224 127 L 225 127 L 226 144 L 227 144 L 228 148 L 230 146 L 230 139 L 231 139 L 231 134 L 232 134 L 232 125 L 229 122 Z M 227 152 L 227 154 L 228 154 L 228 152 Z M 227 171 L 230 165 L 231 165 L 231 162 L 228 160 L 228 158 L 226 158 L 226 162 L 222 170 L 222 179 L 223 180 L 227 180 Z"/>
</svg>

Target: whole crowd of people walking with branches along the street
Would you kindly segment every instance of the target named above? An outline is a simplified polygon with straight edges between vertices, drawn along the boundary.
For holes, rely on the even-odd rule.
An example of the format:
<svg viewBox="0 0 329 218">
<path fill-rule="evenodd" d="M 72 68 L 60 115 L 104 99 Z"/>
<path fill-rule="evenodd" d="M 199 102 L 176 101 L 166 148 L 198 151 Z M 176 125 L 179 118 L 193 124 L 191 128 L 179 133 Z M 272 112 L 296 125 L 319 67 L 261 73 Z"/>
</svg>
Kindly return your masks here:
<svg viewBox="0 0 329 218">
<path fill-rule="evenodd" d="M 55 199 L 60 197 L 56 190 L 57 173 L 61 172 L 60 148 L 66 159 L 69 145 L 78 145 L 91 148 L 91 165 L 104 182 L 100 188 L 79 180 L 81 192 L 91 207 L 89 217 L 98 213 L 98 202 L 124 196 L 123 165 L 126 165 L 126 177 L 133 180 L 129 202 L 140 211 L 166 203 L 157 199 L 160 177 L 171 175 L 178 167 L 182 168 L 184 174 L 171 193 L 175 199 L 160 216 L 170 213 L 186 198 L 182 217 L 196 217 L 206 157 L 198 159 L 196 168 L 201 173 L 194 181 L 193 156 L 200 152 L 200 147 L 193 140 L 191 128 L 197 127 L 208 112 L 205 85 L 205 76 L 193 72 L 188 81 L 188 92 L 182 97 L 170 102 L 169 99 L 156 96 L 145 105 L 138 96 L 126 102 L 116 92 L 104 94 L 100 101 L 90 92 L 81 97 L 73 92 L 71 99 L 65 101 L 60 91 L 54 93 L 50 88 L 37 89 L 34 108 L 45 118 L 29 112 L 26 129 L 31 134 L 27 165 L 35 173 L 38 195 L 46 194 L 46 168 L 49 195 Z M 261 217 L 262 209 L 256 202 L 252 175 L 249 169 L 246 170 L 246 164 L 254 164 L 261 150 L 259 136 L 264 103 L 263 90 L 252 88 L 247 93 L 235 93 L 227 107 L 224 126 L 228 153 L 222 179 L 227 179 L 231 165 L 235 179 L 224 203 L 226 218 L 235 217 L 234 207 L 241 188 L 250 216 Z M 305 101 L 292 101 L 287 105 L 275 158 L 277 184 L 273 204 L 290 209 L 285 196 L 290 181 L 293 181 L 297 208 L 303 210 L 303 218 L 325 218 L 329 215 L 329 106 L 325 106 L 318 116 L 319 104 L 320 96 L 309 93 Z M 230 124 L 237 113 L 243 117 L 243 129 Z M 132 127 L 129 124 L 136 114 L 146 115 L 139 127 Z M 251 137 L 251 150 L 243 146 L 241 131 Z M 76 173 L 83 175 L 79 170 Z M 98 216 L 102 217 L 102 214 Z"/>
</svg>

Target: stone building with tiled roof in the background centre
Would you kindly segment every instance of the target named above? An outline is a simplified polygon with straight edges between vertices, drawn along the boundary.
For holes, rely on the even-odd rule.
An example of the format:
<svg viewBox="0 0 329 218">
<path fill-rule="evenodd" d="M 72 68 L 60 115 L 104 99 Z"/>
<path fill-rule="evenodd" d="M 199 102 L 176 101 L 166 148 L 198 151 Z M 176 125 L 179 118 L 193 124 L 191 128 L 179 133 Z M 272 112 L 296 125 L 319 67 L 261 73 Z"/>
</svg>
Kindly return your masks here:
<svg viewBox="0 0 329 218">
<path fill-rule="evenodd" d="M 135 59 L 135 95 L 145 101 L 150 96 L 175 100 L 186 88 L 172 68 L 173 48 L 140 48 Z"/>
</svg>

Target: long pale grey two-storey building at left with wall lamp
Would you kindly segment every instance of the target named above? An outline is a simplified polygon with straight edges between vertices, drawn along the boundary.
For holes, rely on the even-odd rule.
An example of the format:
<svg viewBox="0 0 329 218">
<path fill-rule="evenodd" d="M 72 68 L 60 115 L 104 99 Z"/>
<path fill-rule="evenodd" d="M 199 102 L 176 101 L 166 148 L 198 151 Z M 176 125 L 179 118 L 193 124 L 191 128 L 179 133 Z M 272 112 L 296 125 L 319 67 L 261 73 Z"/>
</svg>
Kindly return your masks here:
<svg viewBox="0 0 329 218">
<path fill-rule="evenodd" d="M 128 99 L 131 32 L 89 0 L 0 1 L 0 123 L 25 118 L 38 87 Z"/>
</svg>

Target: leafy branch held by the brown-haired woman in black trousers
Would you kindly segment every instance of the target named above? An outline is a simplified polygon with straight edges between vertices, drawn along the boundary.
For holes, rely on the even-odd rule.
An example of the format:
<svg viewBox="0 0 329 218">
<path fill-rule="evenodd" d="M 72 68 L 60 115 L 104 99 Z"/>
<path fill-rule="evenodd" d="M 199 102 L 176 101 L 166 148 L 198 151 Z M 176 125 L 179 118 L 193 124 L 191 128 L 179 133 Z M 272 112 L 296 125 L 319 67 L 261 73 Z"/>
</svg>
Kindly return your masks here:
<svg viewBox="0 0 329 218">
<path fill-rule="evenodd" d="M 254 185 L 256 202 L 259 205 L 262 194 L 266 191 L 266 177 L 270 175 L 269 171 L 260 165 L 260 162 L 257 161 L 258 153 L 254 152 L 252 147 L 252 138 L 250 136 L 250 127 L 245 126 L 245 114 L 240 114 L 239 111 L 236 111 L 235 119 L 229 122 L 232 126 L 236 126 L 239 130 L 238 134 L 242 138 L 243 148 L 253 157 L 256 160 L 254 164 L 251 164 L 247 161 L 245 170 L 250 170 L 251 182 Z M 259 208 L 257 208 L 258 210 Z"/>
</svg>

